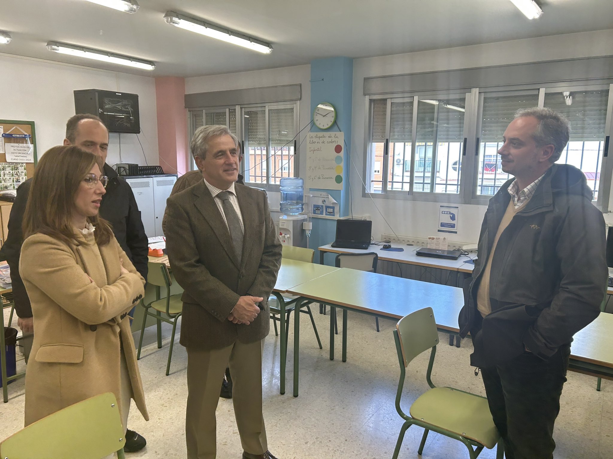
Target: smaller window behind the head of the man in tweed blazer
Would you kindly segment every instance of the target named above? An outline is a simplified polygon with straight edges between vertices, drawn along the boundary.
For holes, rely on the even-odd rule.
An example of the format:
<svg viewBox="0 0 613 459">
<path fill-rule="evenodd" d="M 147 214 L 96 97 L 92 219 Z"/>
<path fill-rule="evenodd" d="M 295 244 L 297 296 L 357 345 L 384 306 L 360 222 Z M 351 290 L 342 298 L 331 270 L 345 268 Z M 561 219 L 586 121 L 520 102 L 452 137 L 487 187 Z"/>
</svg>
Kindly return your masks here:
<svg viewBox="0 0 613 459">
<path fill-rule="evenodd" d="M 238 119 L 237 119 L 238 113 Z M 202 125 L 226 125 L 242 143 L 245 182 L 278 185 L 297 175 L 297 103 L 233 105 L 189 111 L 190 138 Z M 192 160 L 192 168 L 196 168 Z M 273 188 L 274 189 L 274 188 Z"/>
</svg>

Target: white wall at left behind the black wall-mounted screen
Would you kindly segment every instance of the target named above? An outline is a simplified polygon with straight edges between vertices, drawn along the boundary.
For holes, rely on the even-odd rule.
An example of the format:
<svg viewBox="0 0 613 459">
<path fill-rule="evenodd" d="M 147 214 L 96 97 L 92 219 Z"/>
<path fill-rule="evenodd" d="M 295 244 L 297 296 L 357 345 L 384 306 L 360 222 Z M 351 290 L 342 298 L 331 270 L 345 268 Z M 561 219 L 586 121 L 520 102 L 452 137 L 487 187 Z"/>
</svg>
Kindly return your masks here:
<svg viewBox="0 0 613 459">
<path fill-rule="evenodd" d="M 138 135 L 149 165 L 158 165 L 158 124 L 155 82 L 147 76 L 96 70 L 89 67 L 58 64 L 37 59 L 0 54 L 0 118 L 34 121 L 37 153 L 60 145 L 66 121 L 75 114 L 75 89 L 105 89 L 139 95 L 140 127 Z M 111 134 L 107 163 L 145 165 L 135 134 Z"/>
</svg>

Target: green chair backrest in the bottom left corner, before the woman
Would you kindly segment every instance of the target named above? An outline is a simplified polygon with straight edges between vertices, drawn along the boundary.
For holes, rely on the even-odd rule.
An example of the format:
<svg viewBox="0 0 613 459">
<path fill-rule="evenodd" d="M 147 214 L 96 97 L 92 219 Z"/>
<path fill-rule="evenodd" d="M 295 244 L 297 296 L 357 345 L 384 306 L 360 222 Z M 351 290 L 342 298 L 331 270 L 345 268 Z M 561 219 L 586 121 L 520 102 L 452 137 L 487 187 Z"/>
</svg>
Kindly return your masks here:
<svg viewBox="0 0 613 459">
<path fill-rule="evenodd" d="M 28 425 L 0 443 L 9 459 L 100 459 L 114 452 L 123 458 L 123 426 L 115 395 L 96 395 Z"/>
</svg>

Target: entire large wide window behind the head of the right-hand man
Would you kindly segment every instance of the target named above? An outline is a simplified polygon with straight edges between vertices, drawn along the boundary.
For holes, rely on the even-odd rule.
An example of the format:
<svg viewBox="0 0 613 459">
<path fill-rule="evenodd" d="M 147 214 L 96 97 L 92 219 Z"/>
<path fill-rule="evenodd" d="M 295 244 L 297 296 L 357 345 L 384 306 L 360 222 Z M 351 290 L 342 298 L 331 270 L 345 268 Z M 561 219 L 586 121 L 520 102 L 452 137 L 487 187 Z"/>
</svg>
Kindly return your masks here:
<svg viewBox="0 0 613 459">
<path fill-rule="evenodd" d="M 607 209 L 613 163 L 607 163 L 604 149 L 613 130 L 612 97 L 613 84 L 554 83 L 508 91 L 473 88 L 464 94 L 367 95 L 367 191 L 408 200 L 487 204 L 512 178 L 498 155 L 509 122 L 520 108 L 546 106 L 571 122 L 570 140 L 557 162 L 581 169 L 593 201 Z"/>
</svg>

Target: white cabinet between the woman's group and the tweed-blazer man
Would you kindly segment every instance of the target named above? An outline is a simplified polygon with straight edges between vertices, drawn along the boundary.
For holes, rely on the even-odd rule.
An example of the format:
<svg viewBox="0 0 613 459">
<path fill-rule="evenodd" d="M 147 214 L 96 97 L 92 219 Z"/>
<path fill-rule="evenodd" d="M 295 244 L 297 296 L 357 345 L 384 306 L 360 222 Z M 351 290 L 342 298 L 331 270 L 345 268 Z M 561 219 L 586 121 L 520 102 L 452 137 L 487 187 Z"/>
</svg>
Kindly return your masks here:
<svg viewBox="0 0 613 459">
<path fill-rule="evenodd" d="M 147 237 L 164 236 L 162 218 L 166 211 L 166 199 L 176 181 L 175 176 L 126 177 L 139 206 Z"/>
</svg>

